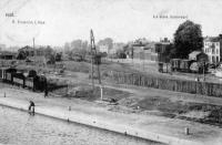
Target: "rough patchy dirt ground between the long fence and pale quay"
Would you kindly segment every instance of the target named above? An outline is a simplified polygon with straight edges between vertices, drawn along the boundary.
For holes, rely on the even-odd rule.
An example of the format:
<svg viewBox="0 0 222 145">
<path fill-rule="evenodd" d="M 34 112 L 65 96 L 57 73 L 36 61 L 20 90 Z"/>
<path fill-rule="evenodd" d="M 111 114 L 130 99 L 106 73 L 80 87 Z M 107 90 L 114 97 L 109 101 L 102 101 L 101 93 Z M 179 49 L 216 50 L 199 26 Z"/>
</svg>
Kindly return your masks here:
<svg viewBox="0 0 222 145">
<path fill-rule="evenodd" d="M 72 85 L 74 86 L 74 85 Z M 75 84 L 80 86 L 80 84 Z M 89 84 L 81 84 L 82 87 L 91 87 Z M 71 96 L 89 102 L 100 101 L 100 87 L 95 86 L 93 93 L 84 92 L 81 96 Z M 70 96 L 69 96 L 70 97 Z M 202 99 L 203 97 L 203 99 Z M 199 96 L 155 89 L 123 89 L 105 85 L 103 100 L 114 99 L 117 106 L 110 107 L 113 112 L 152 114 L 171 118 L 189 120 L 222 127 L 222 105 L 215 103 L 218 97 Z M 208 100 L 209 101 L 208 103 Z M 214 102 L 212 102 L 215 100 Z M 123 106 L 123 107 L 119 107 Z"/>
</svg>

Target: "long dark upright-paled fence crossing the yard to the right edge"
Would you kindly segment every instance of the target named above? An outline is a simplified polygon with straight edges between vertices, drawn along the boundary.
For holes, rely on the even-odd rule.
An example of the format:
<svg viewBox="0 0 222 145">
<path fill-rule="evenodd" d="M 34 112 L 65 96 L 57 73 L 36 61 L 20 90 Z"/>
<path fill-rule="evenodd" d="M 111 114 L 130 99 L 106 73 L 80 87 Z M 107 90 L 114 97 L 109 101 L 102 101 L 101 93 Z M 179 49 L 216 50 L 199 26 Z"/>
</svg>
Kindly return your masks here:
<svg viewBox="0 0 222 145">
<path fill-rule="evenodd" d="M 209 96 L 222 96 L 222 84 L 210 82 L 196 82 L 189 80 L 165 79 L 154 75 L 139 73 L 125 73 L 110 71 L 107 76 L 119 84 L 130 84 L 138 86 L 154 87 L 175 92 L 202 94 Z"/>
</svg>

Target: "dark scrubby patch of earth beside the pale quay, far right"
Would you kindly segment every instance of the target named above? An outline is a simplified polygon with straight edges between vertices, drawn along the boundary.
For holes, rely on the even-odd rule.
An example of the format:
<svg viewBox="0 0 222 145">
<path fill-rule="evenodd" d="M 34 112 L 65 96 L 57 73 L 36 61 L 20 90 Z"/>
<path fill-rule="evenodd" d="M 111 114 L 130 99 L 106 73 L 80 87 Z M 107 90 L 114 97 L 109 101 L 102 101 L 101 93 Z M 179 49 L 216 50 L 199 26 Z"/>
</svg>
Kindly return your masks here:
<svg viewBox="0 0 222 145">
<path fill-rule="evenodd" d="M 131 105 L 131 107 L 138 106 L 147 111 L 158 111 L 159 114 L 157 115 L 161 114 L 168 117 L 190 120 L 222 127 L 222 106 L 220 105 L 184 101 L 174 102 L 170 99 L 153 96 Z"/>
</svg>

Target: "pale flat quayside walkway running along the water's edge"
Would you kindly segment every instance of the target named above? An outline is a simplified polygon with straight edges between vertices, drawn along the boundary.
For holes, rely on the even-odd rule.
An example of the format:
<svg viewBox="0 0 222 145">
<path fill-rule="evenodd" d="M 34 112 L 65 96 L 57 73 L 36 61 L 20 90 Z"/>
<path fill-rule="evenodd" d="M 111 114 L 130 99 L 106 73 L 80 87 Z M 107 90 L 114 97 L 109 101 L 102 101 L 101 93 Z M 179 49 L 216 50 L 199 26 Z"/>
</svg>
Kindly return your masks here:
<svg viewBox="0 0 222 145">
<path fill-rule="evenodd" d="M 164 144 L 221 145 L 222 143 L 222 130 L 215 126 L 163 116 L 111 112 L 109 105 L 101 102 L 52 96 L 44 99 L 42 93 L 22 89 L 0 90 L 0 105 L 27 111 L 29 101 L 36 103 L 37 114 Z M 185 135 L 186 127 L 190 130 L 189 135 Z"/>
</svg>

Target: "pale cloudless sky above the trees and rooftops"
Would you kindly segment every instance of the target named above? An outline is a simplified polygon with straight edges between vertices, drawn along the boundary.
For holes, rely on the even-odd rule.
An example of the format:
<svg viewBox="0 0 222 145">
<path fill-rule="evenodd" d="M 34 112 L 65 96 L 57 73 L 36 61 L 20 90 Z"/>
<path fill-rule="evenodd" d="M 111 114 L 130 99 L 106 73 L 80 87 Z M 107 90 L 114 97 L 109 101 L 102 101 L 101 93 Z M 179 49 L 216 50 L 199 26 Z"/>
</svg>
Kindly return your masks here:
<svg viewBox="0 0 222 145">
<path fill-rule="evenodd" d="M 34 38 L 36 44 L 61 46 L 89 41 L 90 29 L 95 41 L 159 41 L 173 39 L 188 19 L 202 25 L 203 35 L 219 35 L 221 8 L 221 0 L 0 0 L 0 44 L 31 45 Z"/>
</svg>

